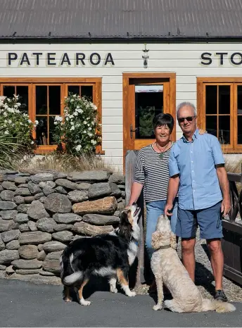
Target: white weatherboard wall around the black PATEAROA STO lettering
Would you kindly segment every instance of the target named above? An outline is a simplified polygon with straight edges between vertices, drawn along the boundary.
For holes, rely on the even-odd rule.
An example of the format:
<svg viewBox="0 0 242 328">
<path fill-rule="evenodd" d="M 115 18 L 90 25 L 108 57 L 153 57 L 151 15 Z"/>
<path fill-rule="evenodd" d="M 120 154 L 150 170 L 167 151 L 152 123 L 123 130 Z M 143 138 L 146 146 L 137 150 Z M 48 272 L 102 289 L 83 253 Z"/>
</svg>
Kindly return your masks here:
<svg viewBox="0 0 242 328">
<path fill-rule="evenodd" d="M 191 101 L 196 105 L 196 77 L 241 76 L 242 65 L 229 61 L 231 53 L 242 52 L 239 43 L 231 44 L 147 44 L 148 68 L 144 68 L 142 49 L 144 44 L 0 44 L 0 76 L 9 77 L 102 77 L 102 123 L 105 160 L 122 170 L 122 73 L 123 72 L 175 72 L 177 75 L 177 105 Z M 27 53 L 30 65 L 7 65 L 7 53 L 15 52 L 18 58 Z M 33 52 L 42 52 L 39 66 L 35 66 Z M 56 53 L 56 66 L 46 65 L 46 53 Z M 63 53 L 68 53 L 71 65 L 58 65 Z M 99 53 L 101 63 L 75 66 L 75 53 Z M 201 53 L 212 53 L 212 63 L 201 65 Z M 216 52 L 227 52 L 224 65 L 219 65 Z M 115 65 L 103 65 L 107 53 L 111 53 Z M 234 57 L 234 61 L 240 61 Z M 177 125 L 177 139 L 181 131 Z"/>
</svg>

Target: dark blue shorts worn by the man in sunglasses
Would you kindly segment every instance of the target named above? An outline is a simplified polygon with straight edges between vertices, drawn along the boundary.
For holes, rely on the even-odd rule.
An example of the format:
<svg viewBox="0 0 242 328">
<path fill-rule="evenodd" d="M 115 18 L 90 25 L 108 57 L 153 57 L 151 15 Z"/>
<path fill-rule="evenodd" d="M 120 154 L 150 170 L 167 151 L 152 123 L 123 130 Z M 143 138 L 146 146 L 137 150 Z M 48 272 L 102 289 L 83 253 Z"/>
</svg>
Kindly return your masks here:
<svg viewBox="0 0 242 328">
<path fill-rule="evenodd" d="M 222 238 L 222 202 L 203 208 L 202 210 L 183 210 L 177 211 L 176 234 L 181 238 L 196 237 L 196 229 L 200 228 L 201 239 Z"/>
</svg>

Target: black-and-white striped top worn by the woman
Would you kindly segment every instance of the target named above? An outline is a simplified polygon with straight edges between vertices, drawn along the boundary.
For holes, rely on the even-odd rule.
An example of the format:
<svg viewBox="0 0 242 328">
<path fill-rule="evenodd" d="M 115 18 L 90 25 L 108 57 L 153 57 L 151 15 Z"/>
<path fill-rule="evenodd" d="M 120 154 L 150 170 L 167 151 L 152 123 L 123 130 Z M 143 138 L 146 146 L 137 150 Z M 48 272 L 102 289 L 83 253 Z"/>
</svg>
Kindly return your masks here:
<svg viewBox="0 0 242 328">
<path fill-rule="evenodd" d="M 173 145 L 174 143 L 172 143 Z M 165 201 L 170 179 L 168 160 L 170 149 L 160 153 L 154 151 L 152 144 L 140 149 L 134 175 L 134 182 L 144 184 L 144 198 L 149 201 Z"/>
</svg>

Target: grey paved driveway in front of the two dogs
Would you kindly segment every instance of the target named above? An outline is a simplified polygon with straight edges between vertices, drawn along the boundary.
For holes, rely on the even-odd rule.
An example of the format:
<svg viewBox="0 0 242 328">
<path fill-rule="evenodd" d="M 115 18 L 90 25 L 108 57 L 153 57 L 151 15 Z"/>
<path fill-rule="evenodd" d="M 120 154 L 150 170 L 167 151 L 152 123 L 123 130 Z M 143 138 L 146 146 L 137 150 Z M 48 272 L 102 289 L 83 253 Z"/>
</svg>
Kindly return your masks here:
<svg viewBox="0 0 242 328">
<path fill-rule="evenodd" d="M 129 298 L 97 291 L 88 307 L 62 300 L 62 287 L 0 279 L 1 327 L 241 327 L 242 303 L 235 313 L 155 312 L 150 296 Z"/>
</svg>

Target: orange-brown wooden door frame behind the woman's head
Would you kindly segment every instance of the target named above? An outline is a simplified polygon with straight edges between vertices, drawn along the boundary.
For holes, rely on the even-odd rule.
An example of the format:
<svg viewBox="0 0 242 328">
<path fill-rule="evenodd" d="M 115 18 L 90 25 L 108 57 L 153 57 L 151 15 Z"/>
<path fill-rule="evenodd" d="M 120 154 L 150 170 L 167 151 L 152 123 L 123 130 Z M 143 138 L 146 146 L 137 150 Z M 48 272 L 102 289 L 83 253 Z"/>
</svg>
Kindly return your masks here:
<svg viewBox="0 0 242 328">
<path fill-rule="evenodd" d="M 129 143 L 129 79 L 169 79 L 170 81 L 170 113 L 176 122 L 176 73 L 174 72 L 125 72 L 122 73 L 122 123 L 123 123 L 123 167 L 125 170 L 125 155 L 130 149 Z M 176 124 L 172 131 L 172 141 L 176 141 Z"/>
</svg>

